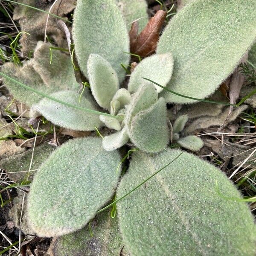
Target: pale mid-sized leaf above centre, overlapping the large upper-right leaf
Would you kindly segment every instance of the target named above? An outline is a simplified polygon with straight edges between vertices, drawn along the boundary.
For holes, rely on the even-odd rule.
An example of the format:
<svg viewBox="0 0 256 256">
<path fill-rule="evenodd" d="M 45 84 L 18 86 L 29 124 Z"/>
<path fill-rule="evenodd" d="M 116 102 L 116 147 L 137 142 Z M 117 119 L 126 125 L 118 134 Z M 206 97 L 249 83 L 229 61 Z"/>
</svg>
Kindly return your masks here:
<svg viewBox="0 0 256 256">
<path fill-rule="evenodd" d="M 172 77 L 173 58 L 171 53 L 154 54 L 143 59 L 131 73 L 128 90 L 130 93 L 135 93 L 142 84 L 153 84 L 150 81 L 143 79 L 151 79 L 162 86 L 170 81 Z M 160 93 L 163 88 L 154 85 L 157 93 Z"/>
</svg>

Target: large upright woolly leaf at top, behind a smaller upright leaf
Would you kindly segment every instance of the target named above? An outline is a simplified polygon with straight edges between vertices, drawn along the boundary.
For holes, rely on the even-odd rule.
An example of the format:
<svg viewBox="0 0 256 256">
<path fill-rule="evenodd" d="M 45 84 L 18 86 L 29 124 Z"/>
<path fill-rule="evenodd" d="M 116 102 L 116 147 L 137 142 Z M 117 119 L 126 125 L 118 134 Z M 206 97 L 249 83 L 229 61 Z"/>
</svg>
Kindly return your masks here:
<svg viewBox="0 0 256 256">
<path fill-rule="evenodd" d="M 130 56 L 128 31 L 115 0 L 78 0 L 74 12 L 73 39 L 79 67 L 85 76 L 91 53 L 105 58 L 116 71 L 119 81 L 125 76 L 121 63 Z"/>
</svg>

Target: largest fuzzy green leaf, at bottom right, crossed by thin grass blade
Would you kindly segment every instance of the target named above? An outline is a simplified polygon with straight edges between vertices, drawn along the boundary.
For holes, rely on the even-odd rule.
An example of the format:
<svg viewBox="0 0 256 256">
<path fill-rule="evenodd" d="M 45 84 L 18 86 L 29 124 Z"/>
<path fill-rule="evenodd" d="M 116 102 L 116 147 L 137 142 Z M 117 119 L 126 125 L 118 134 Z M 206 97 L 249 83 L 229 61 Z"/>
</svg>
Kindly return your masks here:
<svg viewBox="0 0 256 256">
<path fill-rule="evenodd" d="M 117 198 L 181 152 L 134 152 Z M 223 196 L 241 198 L 220 170 L 183 152 L 117 203 L 125 245 L 134 256 L 255 255 L 256 228 L 247 205 Z"/>
</svg>

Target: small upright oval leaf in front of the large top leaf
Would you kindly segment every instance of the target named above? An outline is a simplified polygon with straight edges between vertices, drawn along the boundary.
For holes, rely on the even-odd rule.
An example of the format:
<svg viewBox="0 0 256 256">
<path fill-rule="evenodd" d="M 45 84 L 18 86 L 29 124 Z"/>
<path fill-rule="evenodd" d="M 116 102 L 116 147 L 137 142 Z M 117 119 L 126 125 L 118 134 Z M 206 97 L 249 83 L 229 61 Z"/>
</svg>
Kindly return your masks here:
<svg viewBox="0 0 256 256">
<path fill-rule="evenodd" d="M 87 62 L 90 88 L 96 102 L 110 111 L 110 102 L 119 89 L 116 71 L 98 54 L 91 54 Z"/>
</svg>

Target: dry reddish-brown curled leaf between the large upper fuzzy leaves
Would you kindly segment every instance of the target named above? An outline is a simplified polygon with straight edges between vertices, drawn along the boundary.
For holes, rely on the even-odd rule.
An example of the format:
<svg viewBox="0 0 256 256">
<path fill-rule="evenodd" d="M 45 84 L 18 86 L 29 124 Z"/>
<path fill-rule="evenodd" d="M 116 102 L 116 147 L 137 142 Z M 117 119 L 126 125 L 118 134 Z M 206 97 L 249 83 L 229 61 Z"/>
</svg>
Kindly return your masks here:
<svg viewBox="0 0 256 256">
<path fill-rule="evenodd" d="M 147 26 L 140 32 L 140 35 L 137 35 L 139 28 L 138 23 L 134 22 L 132 24 L 129 32 L 131 53 L 140 55 L 140 57 L 146 57 L 155 51 L 159 39 L 159 32 L 163 26 L 166 15 L 167 12 L 159 10 L 154 17 L 151 17 Z"/>
</svg>

